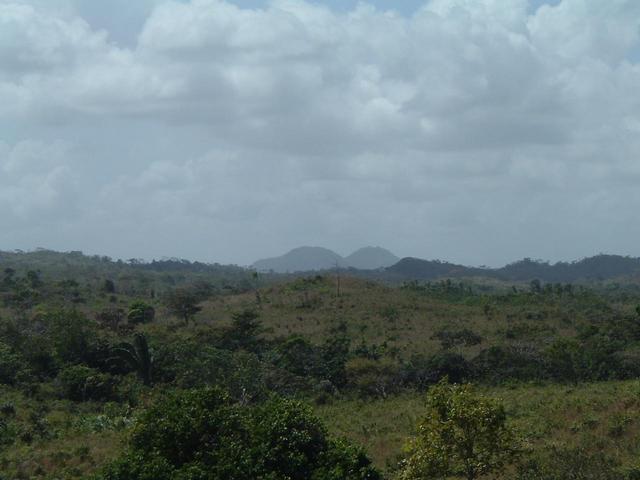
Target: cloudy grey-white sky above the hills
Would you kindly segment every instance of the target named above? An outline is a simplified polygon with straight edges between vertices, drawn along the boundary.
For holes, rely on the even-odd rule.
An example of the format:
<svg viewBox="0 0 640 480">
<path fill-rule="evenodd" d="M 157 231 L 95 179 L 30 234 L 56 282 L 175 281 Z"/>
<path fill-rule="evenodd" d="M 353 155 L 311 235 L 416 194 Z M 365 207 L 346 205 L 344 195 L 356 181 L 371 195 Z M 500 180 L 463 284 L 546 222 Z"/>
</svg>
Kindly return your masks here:
<svg viewBox="0 0 640 480">
<path fill-rule="evenodd" d="M 637 0 L 0 0 L 0 250 L 640 256 Z"/>
</svg>

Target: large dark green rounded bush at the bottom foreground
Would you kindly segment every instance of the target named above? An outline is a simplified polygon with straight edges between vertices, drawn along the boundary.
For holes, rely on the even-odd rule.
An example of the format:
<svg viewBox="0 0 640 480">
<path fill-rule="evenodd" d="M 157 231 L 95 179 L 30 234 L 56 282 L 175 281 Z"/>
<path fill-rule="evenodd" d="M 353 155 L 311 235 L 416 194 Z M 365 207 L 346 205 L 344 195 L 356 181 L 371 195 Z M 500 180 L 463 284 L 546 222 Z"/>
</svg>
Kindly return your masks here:
<svg viewBox="0 0 640 480">
<path fill-rule="evenodd" d="M 220 390 L 169 394 L 140 418 L 104 480 L 378 480 L 364 454 L 327 437 L 298 402 L 247 407 Z"/>
</svg>

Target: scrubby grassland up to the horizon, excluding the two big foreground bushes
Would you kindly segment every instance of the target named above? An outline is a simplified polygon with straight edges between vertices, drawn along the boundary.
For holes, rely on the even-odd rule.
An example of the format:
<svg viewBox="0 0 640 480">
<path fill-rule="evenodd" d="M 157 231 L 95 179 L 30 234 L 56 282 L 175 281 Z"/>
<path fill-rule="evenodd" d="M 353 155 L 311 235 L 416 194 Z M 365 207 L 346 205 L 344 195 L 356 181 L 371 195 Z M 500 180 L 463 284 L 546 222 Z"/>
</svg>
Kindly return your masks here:
<svg viewBox="0 0 640 480">
<path fill-rule="evenodd" d="M 425 392 L 444 376 L 503 399 L 526 439 L 523 462 L 604 461 L 612 478 L 636 478 L 627 476 L 640 453 L 634 288 L 491 278 L 393 286 L 345 272 L 265 279 L 52 252 L 0 261 L 8 478 L 85 478 L 120 455 L 150 402 L 206 385 L 238 402 L 301 398 L 393 478 Z M 199 308 L 188 322 L 168 301 L 176 293 Z M 134 320 L 140 302 L 152 319 Z M 150 348 L 151 385 L 114 361 L 137 334 Z"/>
</svg>

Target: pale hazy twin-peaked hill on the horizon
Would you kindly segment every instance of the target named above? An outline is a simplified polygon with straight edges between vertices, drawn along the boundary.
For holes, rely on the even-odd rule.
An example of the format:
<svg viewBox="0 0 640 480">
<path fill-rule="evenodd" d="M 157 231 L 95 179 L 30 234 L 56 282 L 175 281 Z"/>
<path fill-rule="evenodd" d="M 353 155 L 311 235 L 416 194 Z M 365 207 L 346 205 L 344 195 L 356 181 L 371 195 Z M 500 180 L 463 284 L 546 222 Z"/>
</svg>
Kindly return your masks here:
<svg viewBox="0 0 640 480">
<path fill-rule="evenodd" d="M 328 270 L 338 265 L 341 268 L 375 270 L 389 267 L 399 260 L 393 253 L 381 247 L 364 247 L 348 257 L 322 247 L 299 247 L 280 257 L 258 260 L 253 268 L 259 271 L 276 273 L 306 272 Z"/>
</svg>

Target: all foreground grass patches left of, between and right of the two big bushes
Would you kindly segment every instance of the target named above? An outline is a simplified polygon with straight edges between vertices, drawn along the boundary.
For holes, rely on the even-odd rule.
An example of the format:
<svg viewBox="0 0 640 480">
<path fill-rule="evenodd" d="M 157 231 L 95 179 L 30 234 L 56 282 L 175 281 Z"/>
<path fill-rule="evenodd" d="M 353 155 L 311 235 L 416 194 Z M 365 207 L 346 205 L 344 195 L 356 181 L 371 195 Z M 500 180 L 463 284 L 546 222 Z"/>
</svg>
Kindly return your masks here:
<svg viewBox="0 0 640 480">
<path fill-rule="evenodd" d="M 504 402 L 509 421 L 534 455 L 553 445 L 581 446 L 606 453 L 621 467 L 638 464 L 640 381 L 479 388 Z M 6 478 L 83 478 L 117 456 L 135 418 L 135 412 L 127 415 L 115 405 L 60 401 L 42 411 L 37 401 L 16 392 L 4 390 L 1 396 L 5 404 L 19 405 L 16 416 L 24 424 L 40 423 L 48 432 L 0 455 Z M 314 409 L 331 433 L 363 446 L 377 466 L 391 472 L 424 405 L 424 393 L 406 393 L 336 399 Z"/>
</svg>

